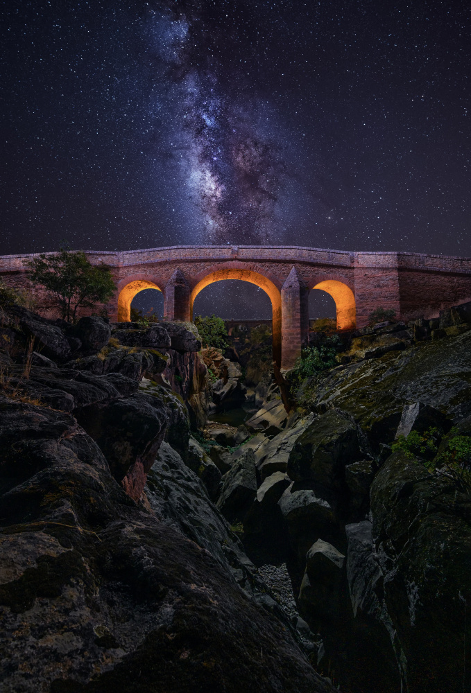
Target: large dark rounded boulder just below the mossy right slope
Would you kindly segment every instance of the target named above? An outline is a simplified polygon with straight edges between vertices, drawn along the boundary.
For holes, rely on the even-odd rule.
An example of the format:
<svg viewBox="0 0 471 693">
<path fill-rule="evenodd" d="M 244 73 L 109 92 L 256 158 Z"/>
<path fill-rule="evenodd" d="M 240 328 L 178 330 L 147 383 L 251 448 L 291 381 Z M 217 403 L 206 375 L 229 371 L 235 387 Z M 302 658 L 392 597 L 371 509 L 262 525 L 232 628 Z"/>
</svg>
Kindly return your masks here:
<svg viewBox="0 0 471 693">
<path fill-rule="evenodd" d="M 330 410 L 309 423 L 289 454 L 286 473 L 294 481 L 314 480 L 339 487 L 345 464 L 360 455 L 357 427 L 349 416 Z"/>
</svg>

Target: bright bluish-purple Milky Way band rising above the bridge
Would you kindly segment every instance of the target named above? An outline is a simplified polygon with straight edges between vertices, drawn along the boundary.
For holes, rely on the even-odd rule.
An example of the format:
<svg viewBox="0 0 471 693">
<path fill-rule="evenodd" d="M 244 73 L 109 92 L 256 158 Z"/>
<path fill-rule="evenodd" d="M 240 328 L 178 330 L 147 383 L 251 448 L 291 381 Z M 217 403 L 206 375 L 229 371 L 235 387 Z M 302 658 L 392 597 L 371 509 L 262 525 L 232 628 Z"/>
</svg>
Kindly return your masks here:
<svg viewBox="0 0 471 693">
<path fill-rule="evenodd" d="M 160 147 L 170 144 L 178 161 L 199 242 L 273 243 L 288 205 L 286 134 L 267 95 L 248 79 L 246 46 L 255 37 L 241 42 L 225 20 L 220 10 L 178 3 L 149 11 L 148 41 L 167 85 L 157 103 L 171 113 Z"/>
</svg>

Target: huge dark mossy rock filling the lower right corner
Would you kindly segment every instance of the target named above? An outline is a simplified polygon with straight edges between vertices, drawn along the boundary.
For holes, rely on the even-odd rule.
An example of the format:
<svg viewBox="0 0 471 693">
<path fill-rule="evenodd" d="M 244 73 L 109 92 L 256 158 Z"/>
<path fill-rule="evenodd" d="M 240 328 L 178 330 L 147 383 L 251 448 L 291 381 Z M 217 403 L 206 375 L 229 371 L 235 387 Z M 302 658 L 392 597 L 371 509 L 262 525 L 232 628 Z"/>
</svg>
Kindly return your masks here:
<svg viewBox="0 0 471 693">
<path fill-rule="evenodd" d="M 372 483 L 371 510 L 380 584 L 407 690 L 457 693 L 463 690 L 457 672 L 471 663 L 469 653 L 463 660 L 463 638 L 471 635 L 469 622 L 464 630 L 471 498 L 411 455 L 394 453 Z"/>
</svg>

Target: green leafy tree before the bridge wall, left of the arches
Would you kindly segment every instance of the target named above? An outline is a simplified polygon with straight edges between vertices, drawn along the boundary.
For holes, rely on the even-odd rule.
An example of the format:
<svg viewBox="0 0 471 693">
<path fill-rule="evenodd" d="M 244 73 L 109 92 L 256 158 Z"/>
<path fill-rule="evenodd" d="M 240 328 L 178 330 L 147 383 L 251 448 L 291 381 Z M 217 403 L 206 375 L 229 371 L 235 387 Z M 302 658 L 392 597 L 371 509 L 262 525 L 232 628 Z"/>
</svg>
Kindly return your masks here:
<svg viewBox="0 0 471 693">
<path fill-rule="evenodd" d="M 64 248 L 28 261 L 30 279 L 58 298 L 62 319 L 76 322 L 77 308 L 93 308 L 108 301 L 115 286 L 108 265 L 92 265 L 81 250 Z"/>
</svg>

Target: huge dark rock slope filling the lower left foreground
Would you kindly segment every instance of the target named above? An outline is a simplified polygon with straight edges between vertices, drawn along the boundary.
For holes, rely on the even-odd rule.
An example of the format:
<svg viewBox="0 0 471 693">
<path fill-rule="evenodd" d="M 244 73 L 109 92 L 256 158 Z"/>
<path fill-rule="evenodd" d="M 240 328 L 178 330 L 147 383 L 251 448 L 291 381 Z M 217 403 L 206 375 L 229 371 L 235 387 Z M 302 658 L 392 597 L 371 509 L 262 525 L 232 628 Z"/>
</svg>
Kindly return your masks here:
<svg viewBox="0 0 471 693">
<path fill-rule="evenodd" d="M 149 491 L 157 517 L 124 493 L 70 414 L 6 398 L 0 410 L 4 690 L 334 690 L 263 599 L 241 590 L 225 554 L 182 533 L 185 487 L 175 503 L 164 490 L 173 474 L 187 500 L 211 507 L 168 447 L 153 477 L 160 495 Z"/>
</svg>

